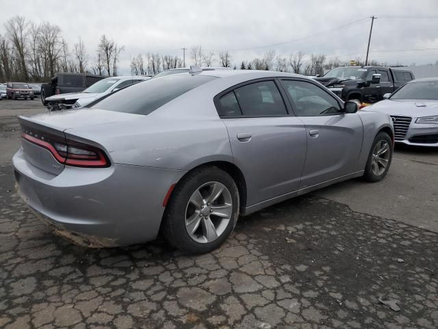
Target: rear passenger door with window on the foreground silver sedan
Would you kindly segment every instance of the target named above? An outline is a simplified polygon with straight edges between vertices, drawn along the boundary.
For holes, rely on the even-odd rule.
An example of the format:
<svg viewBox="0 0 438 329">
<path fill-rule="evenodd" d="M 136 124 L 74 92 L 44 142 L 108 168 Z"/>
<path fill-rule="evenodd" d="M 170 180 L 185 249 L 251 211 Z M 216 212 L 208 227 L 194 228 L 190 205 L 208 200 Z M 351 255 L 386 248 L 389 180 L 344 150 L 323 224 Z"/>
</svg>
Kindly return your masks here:
<svg viewBox="0 0 438 329">
<path fill-rule="evenodd" d="M 247 206 L 300 186 L 307 148 L 305 127 L 289 115 L 283 97 L 274 80 L 239 85 L 215 97 L 233 159 L 246 179 Z"/>
</svg>

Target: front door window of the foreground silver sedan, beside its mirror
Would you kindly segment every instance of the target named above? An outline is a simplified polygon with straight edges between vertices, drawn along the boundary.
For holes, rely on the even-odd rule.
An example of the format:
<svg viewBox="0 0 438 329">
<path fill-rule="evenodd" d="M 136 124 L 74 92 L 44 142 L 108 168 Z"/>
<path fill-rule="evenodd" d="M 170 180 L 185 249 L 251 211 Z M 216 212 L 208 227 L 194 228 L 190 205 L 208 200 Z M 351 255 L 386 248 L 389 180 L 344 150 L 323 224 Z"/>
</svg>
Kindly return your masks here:
<svg viewBox="0 0 438 329">
<path fill-rule="evenodd" d="M 310 82 L 282 80 L 281 83 L 294 102 L 297 117 L 317 117 L 341 112 L 335 98 Z"/>
</svg>

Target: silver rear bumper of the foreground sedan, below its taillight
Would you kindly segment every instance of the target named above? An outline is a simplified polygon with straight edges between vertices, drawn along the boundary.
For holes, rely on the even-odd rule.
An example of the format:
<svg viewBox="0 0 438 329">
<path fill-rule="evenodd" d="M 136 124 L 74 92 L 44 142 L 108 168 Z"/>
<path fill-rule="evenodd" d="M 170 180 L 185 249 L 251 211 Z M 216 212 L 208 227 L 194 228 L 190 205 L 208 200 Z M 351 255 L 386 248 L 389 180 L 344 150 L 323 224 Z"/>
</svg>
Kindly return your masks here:
<svg viewBox="0 0 438 329">
<path fill-rule="evenodd" d="M 27 162 L 21 149 L 12 164 L 18 193 L 29 208 L 57 234 L 97 247 L 155 239 L 164 197 L 184 173 L 114 164 L 100 169 L 66 166 L 53 175 Z"/>
</svg>

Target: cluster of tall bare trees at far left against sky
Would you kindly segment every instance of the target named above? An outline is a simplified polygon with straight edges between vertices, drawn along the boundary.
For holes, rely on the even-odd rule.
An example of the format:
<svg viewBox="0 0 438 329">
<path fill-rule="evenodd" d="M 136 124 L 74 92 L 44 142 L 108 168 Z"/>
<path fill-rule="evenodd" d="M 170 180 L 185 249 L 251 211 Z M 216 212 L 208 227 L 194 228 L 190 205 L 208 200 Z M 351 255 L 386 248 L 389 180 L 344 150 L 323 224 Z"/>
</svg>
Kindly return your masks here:
<svg viewBox="0 0 438 329">
<path fill-rule="evenodd" d="M 90 56 L 78 38 L 70 47 L 61 29 L 49 22 L 34 23 L 14 16 L 0 34 L 0 82 L 47 82 L 57 72 L 94 73 L 114 76 L 118 73 L 124 46 L 103 34 L 96 53 Z"/>
</svg>

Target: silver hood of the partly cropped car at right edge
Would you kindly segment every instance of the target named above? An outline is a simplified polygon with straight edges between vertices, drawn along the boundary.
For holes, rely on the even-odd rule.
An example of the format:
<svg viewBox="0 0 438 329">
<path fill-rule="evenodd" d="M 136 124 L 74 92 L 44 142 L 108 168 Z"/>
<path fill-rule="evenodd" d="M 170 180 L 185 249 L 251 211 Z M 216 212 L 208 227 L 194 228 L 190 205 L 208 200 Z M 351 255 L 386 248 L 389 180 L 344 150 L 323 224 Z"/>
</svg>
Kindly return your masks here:
<svg viewBox="0 0 438 329">
<path fill-rule="evenodd" d="M 408 115 L 410 117 L 427 117 L 428 115 L 438 114 L 438 101 L 430 99 L 385 99 L 362 110 L 394 115 Z"/>
</svg>

